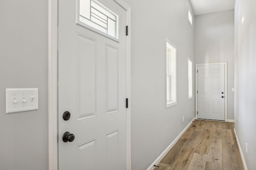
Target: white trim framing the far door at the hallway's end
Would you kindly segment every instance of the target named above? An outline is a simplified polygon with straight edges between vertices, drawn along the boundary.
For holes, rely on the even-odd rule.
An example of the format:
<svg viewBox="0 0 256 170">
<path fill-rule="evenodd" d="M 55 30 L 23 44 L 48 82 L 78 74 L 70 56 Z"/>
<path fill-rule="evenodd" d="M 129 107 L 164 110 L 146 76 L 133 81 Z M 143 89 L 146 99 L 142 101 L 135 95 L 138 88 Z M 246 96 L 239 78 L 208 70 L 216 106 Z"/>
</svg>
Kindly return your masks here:
<svg viewBox="0 0 256 170">
<path fill-rule="evenodd" d="M 198 66 L 206 66 L 206 65 L 221 65 L 221 64 L 224 64 L 224 67 L 225 67 L 225 121 L 228 121 L 227 119 L 227 112 L 228 112 L 228 107 L 227 107 L 227 66 L 228 66 L 228 63 L 205 63 L 205 64 L 196 64 L 196 119 L 197 118 L 197 70 L 198 70 Z"/>
</svg>

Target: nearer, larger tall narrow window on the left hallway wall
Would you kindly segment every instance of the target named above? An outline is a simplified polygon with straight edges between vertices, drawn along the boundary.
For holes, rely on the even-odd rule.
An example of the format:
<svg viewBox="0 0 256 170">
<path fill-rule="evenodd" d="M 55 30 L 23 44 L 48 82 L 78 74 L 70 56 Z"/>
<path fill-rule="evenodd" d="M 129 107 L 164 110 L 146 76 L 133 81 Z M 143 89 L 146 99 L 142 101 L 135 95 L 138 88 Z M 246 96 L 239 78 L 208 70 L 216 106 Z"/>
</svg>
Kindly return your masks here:
<svg viewBox="0 0 256 170">
<path fill-rule="evenodd" d="M 177 104 L 176 47 L 166 39 L 166 107 Z"/>
</svg>

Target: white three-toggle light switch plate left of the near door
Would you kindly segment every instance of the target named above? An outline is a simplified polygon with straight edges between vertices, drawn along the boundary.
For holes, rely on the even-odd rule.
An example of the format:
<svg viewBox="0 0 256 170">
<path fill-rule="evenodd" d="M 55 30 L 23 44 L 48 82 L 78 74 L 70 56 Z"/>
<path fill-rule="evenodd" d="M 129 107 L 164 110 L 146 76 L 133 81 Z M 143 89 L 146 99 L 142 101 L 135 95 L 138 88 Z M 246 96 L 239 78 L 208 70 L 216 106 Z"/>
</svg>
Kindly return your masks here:
<svg viewBox="0 0 256 170">
<path fill-rule="evenodd" d="M 38 88 L 6 88 L 6 113 L 38 109 Z"/>
</svg>

